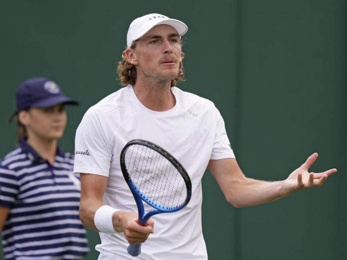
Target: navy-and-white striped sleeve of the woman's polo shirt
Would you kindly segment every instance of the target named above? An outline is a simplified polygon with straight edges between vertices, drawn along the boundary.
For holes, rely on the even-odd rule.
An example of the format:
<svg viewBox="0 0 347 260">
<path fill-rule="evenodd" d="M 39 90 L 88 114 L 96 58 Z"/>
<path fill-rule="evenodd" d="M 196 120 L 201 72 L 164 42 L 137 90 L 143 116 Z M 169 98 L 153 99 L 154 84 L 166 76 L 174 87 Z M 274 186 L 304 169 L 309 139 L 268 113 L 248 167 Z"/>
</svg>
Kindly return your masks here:
<svg viewBox="0 0 347 260">
<path fill-rule="evenodd" d="M 11 207 L 18 194 L 19 186 L 16 172 L 0 165 L 0 206 Z"/>
</svg>

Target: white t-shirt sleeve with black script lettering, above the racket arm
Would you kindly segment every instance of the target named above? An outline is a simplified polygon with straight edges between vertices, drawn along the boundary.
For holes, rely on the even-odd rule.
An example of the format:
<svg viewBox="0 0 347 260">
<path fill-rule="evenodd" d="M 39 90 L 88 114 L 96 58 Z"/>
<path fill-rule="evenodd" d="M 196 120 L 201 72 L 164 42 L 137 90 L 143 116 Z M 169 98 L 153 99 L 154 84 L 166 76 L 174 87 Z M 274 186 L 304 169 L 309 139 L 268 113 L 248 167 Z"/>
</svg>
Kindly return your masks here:
<svg viewBox="0 0 347 260">
<path fill-rule="evenodd" d="M 102 112 L 91 107 L 76 130 L 74 173 L 109 175 L 112 149 Z"/>
</svg>

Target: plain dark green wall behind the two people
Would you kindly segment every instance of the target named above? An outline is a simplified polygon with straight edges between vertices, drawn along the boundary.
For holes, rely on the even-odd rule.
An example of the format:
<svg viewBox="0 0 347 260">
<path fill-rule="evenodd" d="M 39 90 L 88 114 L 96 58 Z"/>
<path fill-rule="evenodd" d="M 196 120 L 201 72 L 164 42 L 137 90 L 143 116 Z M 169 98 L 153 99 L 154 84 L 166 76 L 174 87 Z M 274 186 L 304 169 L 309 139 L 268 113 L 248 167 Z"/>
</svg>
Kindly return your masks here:
<svg viewBox="0 0 347 260">
<path fill-rule="evenodd" d="M 1 147 L 26 78 L 46 76 L 81 101 L 60 145 L 88 107 L 118 90 L 116 63 L 130 22 L 159 12 L 183 20 L 187 80 L 178 87 L 221 111 L 245 175 L 283 180 L 313 152 L 313 171 L 338 168 L 323 187 L 235 209 L 206 172 L 203 231 L 209 259 L 345 259 L 346 1 L 1 1 Z M 88 231 L 91 252 L 98 234 Z"/>
</svg>

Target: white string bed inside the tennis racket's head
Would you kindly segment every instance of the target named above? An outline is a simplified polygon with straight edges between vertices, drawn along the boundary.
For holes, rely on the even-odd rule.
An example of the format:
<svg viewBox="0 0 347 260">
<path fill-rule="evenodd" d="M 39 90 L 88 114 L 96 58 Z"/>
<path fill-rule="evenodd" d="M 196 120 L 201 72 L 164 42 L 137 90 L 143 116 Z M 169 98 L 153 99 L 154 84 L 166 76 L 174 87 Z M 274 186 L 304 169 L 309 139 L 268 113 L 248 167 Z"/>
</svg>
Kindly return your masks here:
<svg viewBox="0 0 347 260">
<path fill-rule="evenodd" d="M 183 177 L 177 168 L 157 151 L 131 145 L 125 153 L 125 165 L 133 183 L 152 203 L 175 208 L 187 198 Z"/>
</svg>

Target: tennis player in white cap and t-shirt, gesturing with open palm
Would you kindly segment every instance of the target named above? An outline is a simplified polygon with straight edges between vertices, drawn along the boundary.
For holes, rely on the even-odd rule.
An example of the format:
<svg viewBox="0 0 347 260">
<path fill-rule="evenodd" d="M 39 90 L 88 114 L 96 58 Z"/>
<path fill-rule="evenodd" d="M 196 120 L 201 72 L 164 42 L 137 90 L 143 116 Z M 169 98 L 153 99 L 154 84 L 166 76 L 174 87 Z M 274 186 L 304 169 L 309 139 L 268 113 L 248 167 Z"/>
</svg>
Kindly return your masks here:
<svg viewBox="0 0 347 260">
<path fill-rule="evenodd" d="M 286 180 L 245 177 L 214 104 L 175 86 L 184 76 L 181 36 L 187 30 L 183 22 L 160 14 L 135 19 L 118 65 L 125 87 L 92 106 L 77 129 L 74 172 L 81 173 L 80 217 L 86 227 L 100 232 L 99 260 L 133 259 L 126 250 L 128 243 L 142 242 L 138 259 L 207 259 L 201 226 L 201 178 L 206 167 L 237 208 L 322 185 L 336 172 L 309 173 L 315 153 Z M 192 180 L 188 205 L 153 216 L 145 227 L 135 222 L 137 207 L 119 163 L 121 149 L 132 139 L 149 140 L 168 150 Z"/>
</svg>

